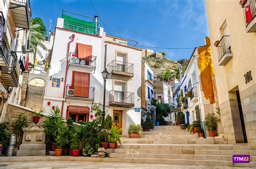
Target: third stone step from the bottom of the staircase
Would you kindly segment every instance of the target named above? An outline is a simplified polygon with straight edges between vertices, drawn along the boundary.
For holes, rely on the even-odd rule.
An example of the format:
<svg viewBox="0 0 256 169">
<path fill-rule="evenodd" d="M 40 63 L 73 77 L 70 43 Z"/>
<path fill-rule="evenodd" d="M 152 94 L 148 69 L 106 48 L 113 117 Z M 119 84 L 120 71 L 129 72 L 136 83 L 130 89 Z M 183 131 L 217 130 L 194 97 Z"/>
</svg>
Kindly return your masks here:
<svg viewBox="0 0 256 169">
<path fill-rule="evenodd" d="M 256 151 L 256 146 L 240 146 L 231 144 L 122 144 L 119 149 L 158 149 L 158 150 L 233 150 Z"/>
</svg>

